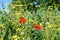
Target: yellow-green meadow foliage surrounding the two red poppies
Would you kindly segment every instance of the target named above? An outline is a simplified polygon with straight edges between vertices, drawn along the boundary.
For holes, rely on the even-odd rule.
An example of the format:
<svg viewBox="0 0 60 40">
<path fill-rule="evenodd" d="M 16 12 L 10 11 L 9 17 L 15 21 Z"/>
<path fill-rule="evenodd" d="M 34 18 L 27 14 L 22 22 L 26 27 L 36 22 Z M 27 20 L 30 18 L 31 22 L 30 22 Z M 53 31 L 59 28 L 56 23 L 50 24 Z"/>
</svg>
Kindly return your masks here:
<svg viewBox="0 0 60 40">
<path fill-rule="evenodd" d="M 5 12 L 3 15 L 3 11 L 1 11 L 0 15 L 3 16 L 0 16 L 0 40 L 60 40 L 59 4 L 54 3 L 54 9 L 53 5 L 37 5 L 35 13 L 31 7 L 33 4 L 31 4 L 29 11 L 25 3 L 26 0 L 24 3 L 21 1 L 13 0 L 17 4 L 8 4 L 9 14 Z M 26 23 L 19 22 L 21 17 L 26 18 Z M 43 29 L 36 30 L 35 24 L 42 25 Z"/>
</svg>

